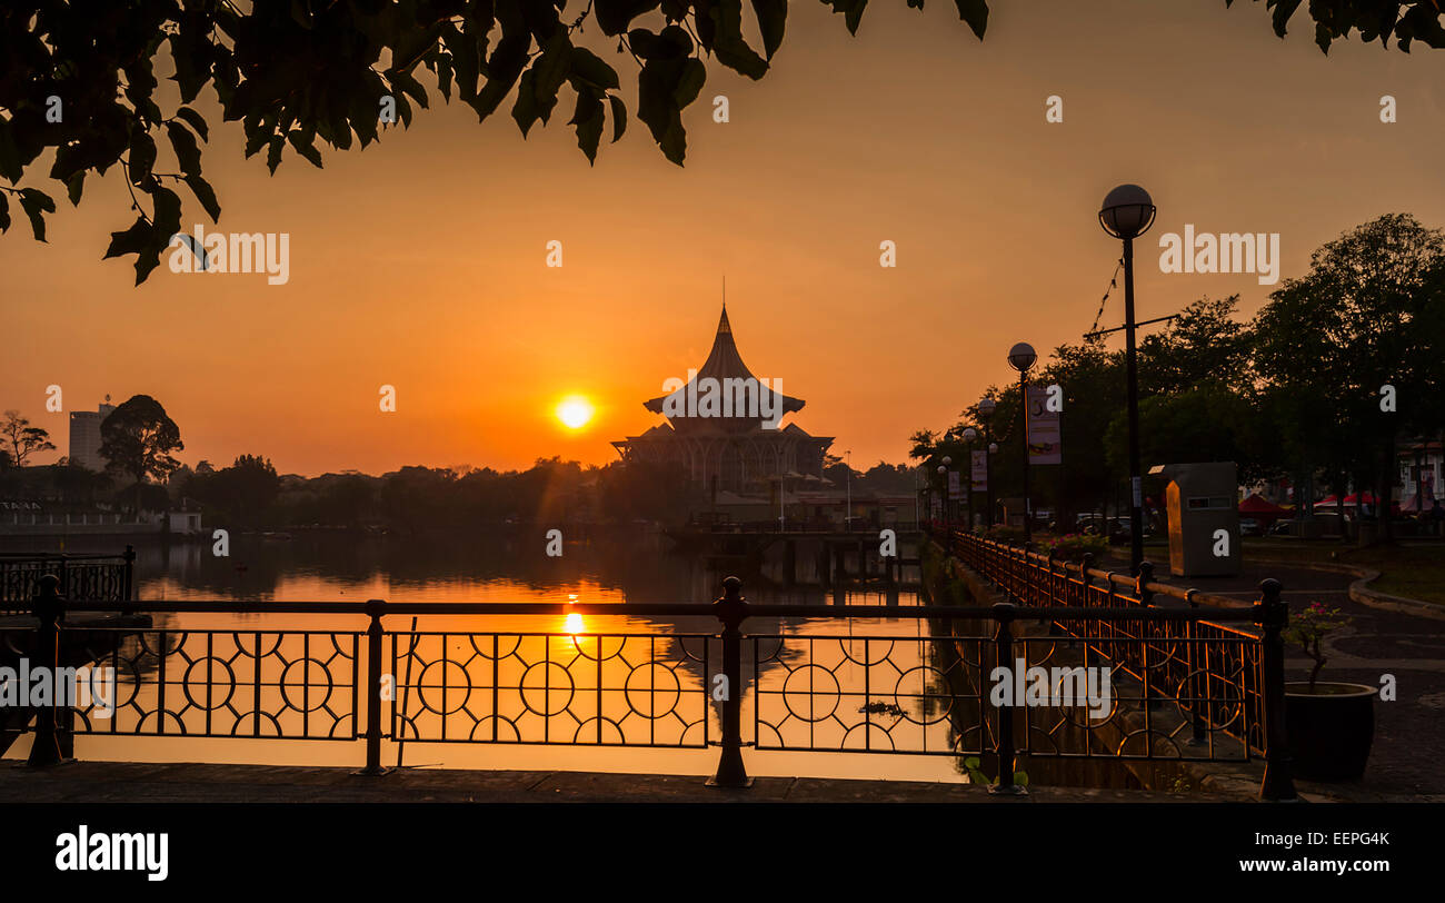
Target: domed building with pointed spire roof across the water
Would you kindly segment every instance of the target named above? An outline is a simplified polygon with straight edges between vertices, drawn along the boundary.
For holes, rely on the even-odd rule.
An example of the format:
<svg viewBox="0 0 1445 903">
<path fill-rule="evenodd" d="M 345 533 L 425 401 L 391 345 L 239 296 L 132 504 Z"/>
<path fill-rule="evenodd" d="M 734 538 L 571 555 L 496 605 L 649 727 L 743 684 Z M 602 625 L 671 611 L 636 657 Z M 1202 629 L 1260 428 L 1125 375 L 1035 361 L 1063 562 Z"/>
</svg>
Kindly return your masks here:
<svg viewBox="0 0 1445 903">
<path fill-rule="evenodd" d="M 743 397 L 744 392 L 757 393 L 762 400 L 746 410 L 737 410 L 743 405 L 730 405 L 730 416 L 688 403 L 709 392 L 709 383 L 704 381 L 709 379 L 717 380 L 714 392 L 725 392 L 733 399 Z M 779 481 L 786 481 L 788 491 L 827 484 L 822 459 L 832 436 L 809 435 L 796 423 L 780 425 L 785 415 L 802 410 L 803 400 L 773 393 L 753 376 L 733 341 L 725 306 L 712 351 L 692 380 L 670 394 L 644 402 L 644 407 L 668 420 L 640 436 L 613 442 L 624 461 L 678 464 L 704 490 L 740 498 L 766 498 L 770 488 L 776 493 Z M 776 410 L 775 420 L 769 420 L 764 409 Z"/>
</svg>

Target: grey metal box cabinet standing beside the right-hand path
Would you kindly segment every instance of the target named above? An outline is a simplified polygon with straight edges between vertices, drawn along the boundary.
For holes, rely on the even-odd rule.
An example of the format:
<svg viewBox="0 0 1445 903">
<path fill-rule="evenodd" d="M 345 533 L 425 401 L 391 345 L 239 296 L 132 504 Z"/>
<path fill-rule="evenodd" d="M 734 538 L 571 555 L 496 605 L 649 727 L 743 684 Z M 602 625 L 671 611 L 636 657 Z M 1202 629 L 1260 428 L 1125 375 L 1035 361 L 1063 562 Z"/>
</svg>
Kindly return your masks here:
<svg viewBox="0 0 1445 903">
<path fill-rule="evenodd" d="M 1169 572 L 1175 576 L 1233 576 L 1240 572 L 1238 475 L 1233 461 L 1162 464 L 1150 474 L 1169 480 Z"/>
</svg>

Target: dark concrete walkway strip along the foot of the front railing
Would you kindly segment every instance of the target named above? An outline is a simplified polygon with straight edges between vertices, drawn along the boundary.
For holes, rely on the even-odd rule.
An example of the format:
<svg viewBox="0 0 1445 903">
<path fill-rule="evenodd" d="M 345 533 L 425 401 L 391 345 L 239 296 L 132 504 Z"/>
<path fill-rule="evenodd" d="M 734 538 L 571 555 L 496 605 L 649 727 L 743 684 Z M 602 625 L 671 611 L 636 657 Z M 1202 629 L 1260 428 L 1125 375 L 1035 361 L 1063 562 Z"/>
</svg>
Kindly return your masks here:
<svg viewBox="0 0 1445 903">
<path fill-rule="evenodd" d="M 704 777 L 594 772 L 406 769 L 366 777 L 347 769 L 77 761 L 33 772 L 0 764 L 0 803 L 1098 803 L 1241 802 L 1201 793 L 1035 787 L 993 796 L 971 785 L 759 777 L 721 790 Z M 1247 800 L 1246 800 L 1247 802 Z"/>
</svg>

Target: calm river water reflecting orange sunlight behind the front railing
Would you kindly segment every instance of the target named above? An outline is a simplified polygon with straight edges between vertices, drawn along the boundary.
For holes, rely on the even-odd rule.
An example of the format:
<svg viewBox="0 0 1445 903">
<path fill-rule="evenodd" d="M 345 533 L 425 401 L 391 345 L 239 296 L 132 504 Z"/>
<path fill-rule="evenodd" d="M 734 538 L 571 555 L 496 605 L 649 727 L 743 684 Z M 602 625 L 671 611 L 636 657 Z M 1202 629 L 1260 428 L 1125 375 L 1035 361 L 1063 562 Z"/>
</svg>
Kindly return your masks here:
<svg viewBox="0 0 1445 903">
<path fill-rule="evenodd" d="M 292 536 L 233 535 L 230 555 L 212 555 L 210 543 L 172 543 L 137 549 L 136 578 L 140 600 L 224 600 L 244 602 L 236 614 L 158 615 L 168 630 L 227 631 L 214 634 L 217 652 L 231 643 L 230 659 L 250 643 L 246 631 L 364 630 L 364 618 L 290 615 L 267 613 L 275 601 L 536 601 L 610 602 L 616 615 L 436 615 L 423 617 L 428 633 L 412 657 L 415 675 L 397 681 L 403 712 L 409 715 L 410 741 L 402 750 L 384 744 L 383 761 L 407 767 L 445 766 L 474 769 L 542 769 L 630 773 L 709 774 L 717 748 L 629 748 L 597 746 L 652 740 L 670 744 L 701 740 L 707 720 L 709 740 L 718 738 L 718 707 L 702 692 L 720 666 L 718 646 L 708 647 L 704 665 L 701 639 L 683 634 L 717 631 L 714 618 L 650 618 L 630 614 L 636 602 L 711 602 L 721 581 L 738 568 L 737 561 L 678 552 L 670 540 L 639 532 L 626 537 L 568 542 L 559 558 L 545 555 L 545 536 L 520 530 L 499 533 L 436 532 L 425 536 L 363 536 L 354 533 L 298 532 Z M 53 545 L 51 546 L 53 549 Z M 103 540 L 71 542 L 69 552 L 111 552 Z M 905 549 L 905 556 L 912 550 Z M 749 602 L 760 610 L 749 618 L 744 643 L 743 733 L 756 733 L 772 744 L 789 747 L 871 748 L 896 746 L 948 750 L 949 721 L 939 704 L 929 624 L 919 618 L 779 618 L 766 607 L 792 604 L 884 604 L 881 587 L 851 589 L 840 597 L 816 585 L 814 556 L 798 555 L 799 585 L 785 587 L 782 561 L 764 563 L 764 579 L 744 584 Z M 851 565 L 850 565 L 851 566 Z M 905 568 L 905 584 L 916 585 L 918 569 Z M 767 579 L 770 578 L 770 579 Z M 918 605 L 918 592 L 897 591 L 896 604 Z M 387 618 L 389 630 L 406 630 L 410 618 Z M 230 633 L 237 631 L 237 633 Z M 501 654 L 490 634 L 501 633 Z M 471 634 L 484 634 L 481 637 Z M 522 636 L 548 634 L 548 636 Z M 198 634 L 199 636 L 199 634 Z M 630 639 L 629 639 L 630 637 Z M 877 637 L 877 639 L 864 639 Z M 292 637 L 295 639 L 295 637 Z M 298 643 L 299 639 L 295 639 Z M 288 640 L 290 641 L 290 640 Z M 315 634 L 312 634 L 312 641 Z M 195 641 L 189 641 L 195 644 Z M 405 643 L 405 641 L 403 641 Z M 342 646 L 345 646 L 342 643 Z M 191 650 L 191 646 L 186 646 Z M 442 654 L 445 650 L 445 654 Z M 510 678 L 496 659 L 507 650 Z M 539 652 L 540 650 L 540 652 Z M 406 660 L 403 654 L 397 662 Z M 364 653 L 364 646 L 363 646 Z M 465 654 L 462 654 L 465 653 Z M 311 653 L 315 656 L 315 652 Z M 240 657 L 244 657 L 240 656 Z M 319 656 L 318 656 L 319 657 Z M 436 667 L 428 663 L 438 662 Z M 543 660 L 540 670 L 526 667 Z M 568 665 L 568 659 L 572 660 Z M 179 656 L 176 656 L 179 660 Z M 649 665 L 656 660 L 656 665 Z M 561 662 L 561 665 L 558 665 Z M 595 663 L 595 682 L 588 683 Z M 210 666 L 210 665 L 207 665 Z M 305 667 L 311 667 L 308 662 Z M 400 665 L 397 665 L 400 670 Z M 486 678 L 487 669 L 496 669 Z M 478 669 L 481 673 L 478 673 Z M 451 679 L 448 681 L 448 673 Z M 753 686 L 753 675 L 759 686 Z M 218 676 L 218 672 L 217 672 Z M 204 679 L 204 678 L 198 678 Z M 659 679 L 665 685 L 657 692 Z M 545 681 L 542 686 L 539 681 Z M 579 682 L 581 681 L 581 682 Z M 124 682 L 124 678 L 123 678 Z M 497 730 L 487 709 L 483 683 L 506 683 L 529 699 Z M 670 683 L 669 683 L 670 682 Z M 559 685 L 564 685 L 559 688 Z M 535 685 L 535 686 L 533 686 Z M 530 689 L 527 689 L 530 686 Z M 618 689 L 603 702 L 603 686 Z M 415 688 L 415 689 L 413 689 Z M 597 691 L 595 708 L 587 708 L 588 688 Z M 668 689 L 675 694 L 668 695 Z M 762 689 L 762 702 L 759 701 Z M 634 692 L 642 691 L 642 692 Z M 822 691 L 812 695 L 808 691 Z M 835 692 L 837 691 L 837 692 Z M 172 691 L 175 692 L 175 691 Z M 269 691 L 267 691 L 269 692 Z M 285 692 L 282 688 L 277 692 Z M 199 694 L 199 691 L 198 691 Z M 412 695 L 415 694 L 415 695 Z M 527 695 L 530 694 L 530 696 Z M 344 695 L 344 694 L 342 694 Z M 124 699 L 126 691 L 121 691 Z M 618 702 L 621 701 L 621 702 Z M 341 711 L 353 701 L 338 699 Z M 173 705 L 168 702 L 168 708 Z M 302 705 L 308 708 L 314 704 Z M 618 711 L 608 707 L 620 705 Z M 762 709 L 757 707 L 762 705 Z M 657 708 L 662 707 L 662 708 Z M 669 709 L 669 718 L 647 720 Z M 821 708 L 822 707 L 822 708 Z M 860 715 L 870 707 L 867 715 Z M 316 708 L 316 714 L 325 707 Z M 217 709 L 220 712 L 220 709 Z M 499 709 L 500 711 L 500 707 Z M 194 712 L 192 712 L 194 714 Z M 866 721 L 861 725 L 858 722 Z M 124 731 L 127 721 L 120 721 Z M 194 727 L 195 722 L 192 722 Z M 669 727 L 670 725 L 670 727 Z M 344 725 L 350 730 L 350 724 Z M 595 730 L 594 730 L 595 728 Z M 659 730 L 662 728 L 662 730 Z M 212 728 L 214 730 L 214 728 Z M 509 734 L 510 731 L 510 734 Z M 643 731 L 643 733 L 639 733 Z M 221 728 L 224 731 L 224 727 Z M 655 734 L 655 735 L 649 735 Z M 581 737 L 587 746 L 540 746 L 538 740 Z M 415 740 L 520 738 L 526 743 L 423 743 Z M 592 743 L 590 743 L 592 741 Z M 9 757 L 23 756 L 29 743 Z M 22 748 L 25 747 L 25 748 Z M 82 759 L 134 761 L 249 761 L 267 764 L 360 766 L 360 741 L 233 740 L 215 737 L 79 735 Z M 965 780 L 955 756 L 873 754 L 867 751 L 744 750 L 756 776 L 806 774 L 818 777 L 870 777 L 907 780 Z"/>
</svg>

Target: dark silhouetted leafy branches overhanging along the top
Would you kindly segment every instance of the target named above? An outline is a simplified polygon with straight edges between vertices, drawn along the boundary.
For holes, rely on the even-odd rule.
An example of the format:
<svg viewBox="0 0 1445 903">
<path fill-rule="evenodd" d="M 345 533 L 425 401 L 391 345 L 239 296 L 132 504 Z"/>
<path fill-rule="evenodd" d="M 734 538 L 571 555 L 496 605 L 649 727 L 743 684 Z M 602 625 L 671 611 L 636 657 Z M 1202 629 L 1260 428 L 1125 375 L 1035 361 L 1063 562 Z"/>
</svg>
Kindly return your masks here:
<svg viewBox="0 0 1445 903">
<path fill-rule="evenodd" d="M 824 0 L 857 33 L 867 0 Z M 1225 0 L 1228 4 L 1230 0 Z M 582 45 L 613 49 L 637 66 L 634 113 L 662 153 L 686 153 L 682 110 L 692 104 L 712 59 L 762 78 L 782 46 L 788 0 L 751 0 L 762 38 L 743 36 L 741 0 L 592 0 L 577 16 L 565 0 L 10 0 L 0 7 L 0 231 L 14 198 L 38 240 L 55 201 L 32 166 L 53 152 L 49 178 L 79 204 L 85 179 L 118 168 L 136 221 L 111 233 L 105 257 L 134 256 L 136 283 L 159 264 L 181 231 L 181 182 L 218 221 L 220 199 L 202 175 L 207 117 L 194 105 L 210 87 L 225 121 L 246 130 L 246 156 L 266 152 L 272 172 L 290 152 L 321 166 L 321 143 L 366 147 L 390 123 L 410 126 L 415 103 L 452 92 L 478 120 L 512 104 L 522 134 L 546 124 L 566 87 L 568 126 L 590 160 L 604 126 L 613 140 L 627 124 L 617 69 Z M 922 9 L 923 0 L 909 0 Z M 980 39 L 985 0 L 954 0 Z M 1299 0 L 1267 0 L 1279 35 Z M 1358 29 L 1366 40 L 1400 49 L 1413 40 L 1445 46 L 1439 4 L 1311 3 L 1322 49 Z M 759 52 L 762 51 L 762 52 Z M 169 56 L 181 104 L 160 107 L 158 56 Z M 423 84 L 426 82 L 426 84 Z M 55 100 L 52 100 L 55 98 Z M 55 118 L 59 101 L 59 118 Z M 565 110 L 565 107 L 564 107 Z M 25 182 L 22 185 L 22 182 Z M 9 195 L 9 196 L 7 196 Z"/>
</svg>

